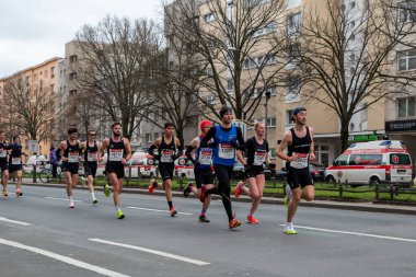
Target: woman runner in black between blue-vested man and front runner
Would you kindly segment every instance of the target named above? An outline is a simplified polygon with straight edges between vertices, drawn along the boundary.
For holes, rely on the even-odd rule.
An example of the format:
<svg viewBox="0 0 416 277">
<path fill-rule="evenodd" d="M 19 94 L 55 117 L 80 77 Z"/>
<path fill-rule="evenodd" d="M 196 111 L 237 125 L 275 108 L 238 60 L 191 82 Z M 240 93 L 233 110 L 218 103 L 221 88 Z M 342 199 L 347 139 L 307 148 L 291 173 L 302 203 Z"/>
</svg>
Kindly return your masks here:
<svg viewBox="0 0 416 277">
<path fill-rule="evenodd" d="M 244 186 L 243 182 L 234 188 L 234 196 L 239 198 L 242 192 L 252 197 L 252 208 L 247 215 L 247 222 L 252 224 L 258 224 L 258 220 L 254 218 L 254 212 L 257 210 L 259 203 L 262 201 L 264 185 L 266 183 L 264 175 L 263 164 L 266 162 L 270 169 L 275 169 L 276 164 L 270 163 L 268 157 L 268 142 L 264 139 L 265 125 L 264 123 L 256 123 L 254 126 L 255 136 L 245 141 L 245 148 L 247 152 L 247 160 L 243 158 L 243 153 L 238 151 L 236 157 L 244 165 L 244 172 L 249 187 Z"/>
</svg>

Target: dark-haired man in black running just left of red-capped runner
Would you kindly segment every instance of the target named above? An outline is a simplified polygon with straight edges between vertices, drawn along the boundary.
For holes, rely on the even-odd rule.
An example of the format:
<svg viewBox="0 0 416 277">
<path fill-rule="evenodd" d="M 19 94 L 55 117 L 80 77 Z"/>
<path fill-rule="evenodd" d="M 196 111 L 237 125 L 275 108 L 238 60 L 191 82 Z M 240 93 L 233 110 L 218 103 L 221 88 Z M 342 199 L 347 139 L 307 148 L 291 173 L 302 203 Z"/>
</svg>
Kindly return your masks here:
<svg viewBox="0 0 416 277">
<path fill-rule="evenodd" d="M 149 149 L 149 154 L 153 155 L 159 161 L 159 173 L 163 180 L 162 188 L 166 195 L 166 200 L 171 217 L 175 217 L 177 211 L 172 204 L 172 178 L 173 171 L 175 170 L 175 160 L 182 155 L 182 146 L 177 138 L 173 136 L 175 127 L 173 123 L 164 124 L 164 134 L 162 137 L 154 140 L 153 145 Z M 154 154 L 154 149 L 158 149 L 158 154 Z M 154 178 L 150 181 L 149 193 L 153 193 L 158 183 Z"/>
</svg>

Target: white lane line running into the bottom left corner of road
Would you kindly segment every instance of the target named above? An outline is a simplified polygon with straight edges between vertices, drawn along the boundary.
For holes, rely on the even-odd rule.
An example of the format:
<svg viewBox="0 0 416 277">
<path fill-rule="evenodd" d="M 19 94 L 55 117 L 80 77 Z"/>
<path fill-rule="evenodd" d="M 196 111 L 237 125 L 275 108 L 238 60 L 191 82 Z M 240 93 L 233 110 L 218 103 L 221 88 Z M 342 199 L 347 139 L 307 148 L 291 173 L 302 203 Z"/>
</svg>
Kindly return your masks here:
<svg viewBox="0 0 416 277">
<path fill-rule="evenodd" d="M 56 254 L 56 253 L 53 253 L 53 252 L 49 252 L 49 251 L 46 251 L 46 250 L 42 250 L 42 249 L 36 249 L 36 247 L 28 246 L 28 245 L 24 245 L 24 244 L 21 244 L 19 242 L 13 242 L 13 241 L 8 241 L 8 240 L 4 240 L 4 239 L 0 239 L 0 243 L 4 244 L 4 245 L 12 246 L 12 247 L 21 249 L 21 250 L 26 250 L 26 251 L 30 251 L 30 252 L 33 252 L 33 253 L 36 253 L 36 254 L 41 254 L 41 255 L 44 255 L 44 256 L 47 256 L 47 257 L 50 257 L 50 258 L 55 258 L 55 259 L 58 259 L 60 262 L 63 262 L 63 263 L 67 263 L 67 264 L 70 264 L 70 265 L 73 265 L 73 266 L 77 266 L 77 267 L 81 267 L 81 268 L 84 268 L 84 269 L 88 269 L 90 272 L 94 272 L 94 273 L 97 273 L 97 274 L 101 274 L 101 275 L 112 276 L 112 277 L 129 277 L 128 275 L 124 275 L 124 274 L 120 274 L 120 273 L 112 272 L 112 270 L 108 270 L 108 269 L 105 269 L 105 268 L 102 268 L 102 267 L 99 267 L 99 266 L 95 266 L 95 265 L 91 265 L 91 264 L 88 264 L 88 263 L 84 263 L 84 262 L 81 262 L 81 261 L 78 261 L 78 259 L 74 259 L 74 258 L 71 258 L 71 257 L 67 257 L 67 256 L 62 256 L 62 255 Z"/>
</svg>

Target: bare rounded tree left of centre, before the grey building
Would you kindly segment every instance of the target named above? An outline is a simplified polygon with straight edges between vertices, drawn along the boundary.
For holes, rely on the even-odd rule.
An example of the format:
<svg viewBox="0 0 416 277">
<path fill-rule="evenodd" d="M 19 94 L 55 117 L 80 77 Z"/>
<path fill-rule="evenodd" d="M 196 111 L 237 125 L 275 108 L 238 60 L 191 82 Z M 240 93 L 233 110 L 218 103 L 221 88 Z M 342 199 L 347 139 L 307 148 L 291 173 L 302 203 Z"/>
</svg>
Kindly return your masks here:
<svg viewBox="0 0 416 277">
<path fill-rule="evenodd" d="M 96 99 L 113 120 L 122 120 L 124 136 L 131 138 L 141 109 L 153 99 L 151 69 L 160 53 L 155 24 L 106 16 L 96 26 L 83 26 L 77 41 L 81 57 L 71 67 L 78 90 Z"/>
</svg>

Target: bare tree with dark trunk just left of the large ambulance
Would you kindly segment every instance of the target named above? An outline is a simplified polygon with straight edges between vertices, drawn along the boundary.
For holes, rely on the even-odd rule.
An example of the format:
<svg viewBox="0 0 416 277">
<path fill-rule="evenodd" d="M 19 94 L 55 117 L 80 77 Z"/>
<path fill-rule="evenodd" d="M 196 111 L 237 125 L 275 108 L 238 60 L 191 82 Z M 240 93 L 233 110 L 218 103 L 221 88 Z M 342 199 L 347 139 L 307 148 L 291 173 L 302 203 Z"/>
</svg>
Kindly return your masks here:
<svg viewBox="0 0 416 277">
<path fill-rule="evenodd" d="M 414 74 L 396 73 L 397 49 L 415 47 L 415 33 L 414 20 L 397 20 L 403 7 L 395 2 L 362 1 L 353 7 L 327 0 L 321 12 L 313 4 L 305 10 L 301 30 L 296 31 L 300 35 L 288 33 L 288 57 L 298 67 L 287 78 L 301 83 L 305 101 L 323 103 L 337 115 L 343 150 L 353 115 L 408 89 L 415 80 Z"/>
</svg>

